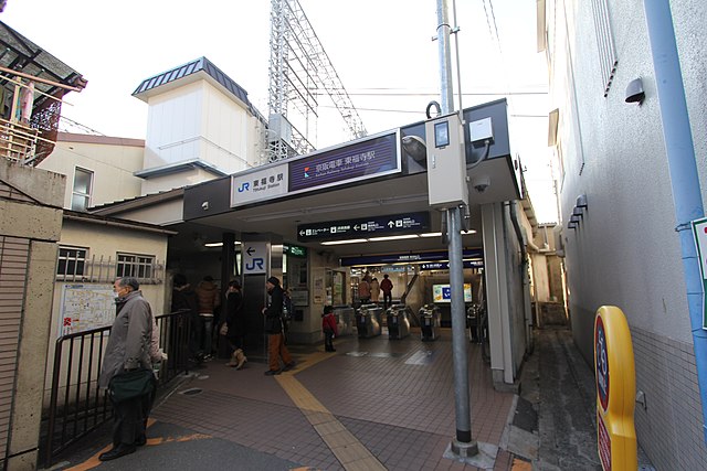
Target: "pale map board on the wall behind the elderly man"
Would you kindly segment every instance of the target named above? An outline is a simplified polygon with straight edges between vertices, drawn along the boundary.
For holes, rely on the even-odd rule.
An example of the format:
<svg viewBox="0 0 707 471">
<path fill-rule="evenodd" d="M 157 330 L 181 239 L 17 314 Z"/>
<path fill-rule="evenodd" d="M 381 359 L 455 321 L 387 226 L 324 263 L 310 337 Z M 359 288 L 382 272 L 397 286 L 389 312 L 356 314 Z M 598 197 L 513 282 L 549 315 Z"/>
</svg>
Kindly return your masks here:
<svg viewBox="0 0 707 471">
<path fill-rule="evenodd" d="M 105 285 L 64 285 L 59 334 L 113 325 L 115 293 Z"/>
</svg>

